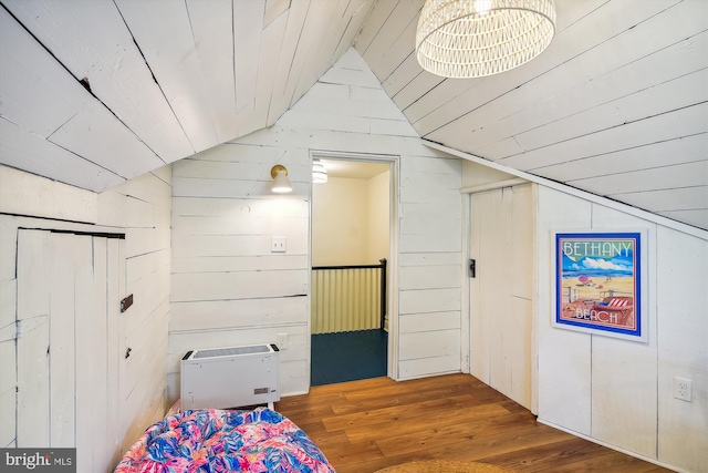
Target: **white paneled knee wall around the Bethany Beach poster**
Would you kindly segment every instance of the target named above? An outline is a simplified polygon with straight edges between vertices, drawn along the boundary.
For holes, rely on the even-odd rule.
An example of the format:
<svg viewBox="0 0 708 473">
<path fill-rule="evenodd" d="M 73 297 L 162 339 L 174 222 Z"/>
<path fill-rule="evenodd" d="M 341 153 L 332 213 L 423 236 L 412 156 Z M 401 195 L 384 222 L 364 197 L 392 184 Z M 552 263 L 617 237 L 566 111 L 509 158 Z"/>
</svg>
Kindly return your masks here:
<svg viewBox="0 0 708 473">
<path fill-rule="evenodd" d="M 543 186 L 538 212 L 539 420 L 679 471 L 707 472 L 708 234 Z M 647 343 L 551 327 L 558 228 L 647 229 Z M 693 380 L 690 403 L 674 399 L 674 377 Z"/>
</svg>

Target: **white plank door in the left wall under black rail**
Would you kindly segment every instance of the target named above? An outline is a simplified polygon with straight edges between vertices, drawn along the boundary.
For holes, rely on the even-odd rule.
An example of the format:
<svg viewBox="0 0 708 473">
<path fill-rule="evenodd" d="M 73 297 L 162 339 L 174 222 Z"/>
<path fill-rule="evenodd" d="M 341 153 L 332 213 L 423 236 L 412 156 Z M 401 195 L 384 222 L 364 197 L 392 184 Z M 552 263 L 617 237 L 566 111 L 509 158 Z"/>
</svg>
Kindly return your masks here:
<svg viewBox="0 0 708 473">
<path fill-rule="evenodd" d="M 17 446 L 76 446 L 77 471 L 115 459 L 123 240 L 20 229 Z"/>
</svg>

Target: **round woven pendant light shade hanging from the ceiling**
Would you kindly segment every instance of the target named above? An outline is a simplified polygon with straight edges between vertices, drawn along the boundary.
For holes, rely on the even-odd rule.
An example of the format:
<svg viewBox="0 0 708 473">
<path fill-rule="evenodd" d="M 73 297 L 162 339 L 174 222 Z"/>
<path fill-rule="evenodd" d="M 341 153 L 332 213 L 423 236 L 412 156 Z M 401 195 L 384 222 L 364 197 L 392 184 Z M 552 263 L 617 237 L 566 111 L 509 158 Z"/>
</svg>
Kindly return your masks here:
<svg viewBox="0 0 708 473">
<path fill-rule="evenodd" d="M 426 0 L 416 55 L 436 75 L 483 78 L 532 60 L 554 33 L 553 0 Z"/>
</svg>

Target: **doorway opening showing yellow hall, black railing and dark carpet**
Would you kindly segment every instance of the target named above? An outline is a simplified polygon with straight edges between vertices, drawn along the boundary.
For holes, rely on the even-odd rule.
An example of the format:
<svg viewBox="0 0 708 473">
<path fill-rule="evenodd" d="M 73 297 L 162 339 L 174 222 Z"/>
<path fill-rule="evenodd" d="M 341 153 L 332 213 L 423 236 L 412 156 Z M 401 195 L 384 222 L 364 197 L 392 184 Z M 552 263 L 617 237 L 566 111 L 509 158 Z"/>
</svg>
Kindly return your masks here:
<svg viewBox="0 0 708 473">
<path fill-rule="evenodd" d="M 386 376 L 395 161 L 312 157 L 311 385 Z"/>
</svg>

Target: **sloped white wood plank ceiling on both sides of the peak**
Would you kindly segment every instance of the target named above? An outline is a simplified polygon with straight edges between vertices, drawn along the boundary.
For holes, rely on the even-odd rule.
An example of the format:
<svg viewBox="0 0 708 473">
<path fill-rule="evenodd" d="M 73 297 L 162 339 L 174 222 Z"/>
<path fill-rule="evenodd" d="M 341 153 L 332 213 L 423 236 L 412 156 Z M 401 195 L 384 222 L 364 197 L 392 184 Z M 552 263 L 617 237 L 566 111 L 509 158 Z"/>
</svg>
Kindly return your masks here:
<svg viewBox="0 0 708 473">
<path fill-rule="evenodd" d="M 535 60 L 424 72 L 424 0 L 0 0 L 0 163 L 95 192 L 270 126 L 354 47 L 418 134 L 708 229 L 708 2 L 556 0 Z"/>
</svg>

